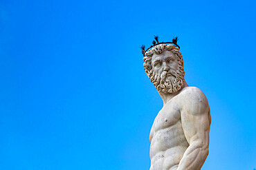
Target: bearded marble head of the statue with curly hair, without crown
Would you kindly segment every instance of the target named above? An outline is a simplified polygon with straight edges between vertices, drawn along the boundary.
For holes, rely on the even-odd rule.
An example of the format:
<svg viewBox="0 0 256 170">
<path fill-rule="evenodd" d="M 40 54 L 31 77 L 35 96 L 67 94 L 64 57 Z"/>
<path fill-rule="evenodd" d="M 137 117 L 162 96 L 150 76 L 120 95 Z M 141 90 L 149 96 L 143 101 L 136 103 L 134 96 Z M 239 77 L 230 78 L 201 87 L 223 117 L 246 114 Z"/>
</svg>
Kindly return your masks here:
<svg viewBox="0 0 256 170">
<path fill-rule="evenodd" d="M 183 57 L 174 45 L 159 44 L 145 53 L 144 70 L 158 92 L 173 93 L 183 87 Z"/>
</svg>

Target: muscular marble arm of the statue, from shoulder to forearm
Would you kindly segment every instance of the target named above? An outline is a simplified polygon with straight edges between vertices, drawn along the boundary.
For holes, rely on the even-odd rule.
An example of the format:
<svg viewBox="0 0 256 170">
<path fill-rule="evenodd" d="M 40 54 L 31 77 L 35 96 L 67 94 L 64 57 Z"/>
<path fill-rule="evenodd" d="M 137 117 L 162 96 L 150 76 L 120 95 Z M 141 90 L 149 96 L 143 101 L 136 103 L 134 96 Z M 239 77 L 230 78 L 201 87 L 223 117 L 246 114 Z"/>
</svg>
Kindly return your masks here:
<svg viewBox="0 0 256 170">
<path fill-rule="evenodd" d="M 181 110 L 181 123 L 190 146 L 177 170 L 200 170 L 209 153 L 210 131 L 210 107 L 200 89 L 188 94 L 188 100 Z"/>
</svg>

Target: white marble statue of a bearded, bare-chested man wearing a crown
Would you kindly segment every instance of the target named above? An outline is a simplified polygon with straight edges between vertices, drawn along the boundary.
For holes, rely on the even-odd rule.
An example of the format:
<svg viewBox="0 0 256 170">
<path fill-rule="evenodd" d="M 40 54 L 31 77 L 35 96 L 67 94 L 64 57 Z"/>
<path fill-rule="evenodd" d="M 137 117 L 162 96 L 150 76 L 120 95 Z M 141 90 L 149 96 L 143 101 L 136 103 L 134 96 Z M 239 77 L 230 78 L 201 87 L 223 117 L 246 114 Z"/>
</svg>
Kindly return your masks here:
<svg viewBox="0 0 256 170">
<path fill-rule="evenodd" d="M 209 152 L 208 100 L 201 89 L 185 82 L 179 45 L 153 43 L 147 52 L 142 48 L 143 65 L 163 108 L 149 135 L 149 170 L 200 170 Z"/>
</svg>

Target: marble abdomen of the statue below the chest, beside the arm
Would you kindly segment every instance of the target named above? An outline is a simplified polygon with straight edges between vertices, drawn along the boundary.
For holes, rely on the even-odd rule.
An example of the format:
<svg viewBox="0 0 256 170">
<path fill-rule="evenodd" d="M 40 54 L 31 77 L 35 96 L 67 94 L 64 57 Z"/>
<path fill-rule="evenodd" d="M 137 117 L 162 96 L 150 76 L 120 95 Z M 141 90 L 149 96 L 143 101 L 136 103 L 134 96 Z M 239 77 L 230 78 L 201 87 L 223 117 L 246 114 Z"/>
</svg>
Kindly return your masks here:
<svg viewBox="0 0 256 170">
<path fill-rule="evenodd" d="M 175 169 L 188 146 L 181 121 L 155 131 L 150 145 L 150 170 Z"/>
</svg>

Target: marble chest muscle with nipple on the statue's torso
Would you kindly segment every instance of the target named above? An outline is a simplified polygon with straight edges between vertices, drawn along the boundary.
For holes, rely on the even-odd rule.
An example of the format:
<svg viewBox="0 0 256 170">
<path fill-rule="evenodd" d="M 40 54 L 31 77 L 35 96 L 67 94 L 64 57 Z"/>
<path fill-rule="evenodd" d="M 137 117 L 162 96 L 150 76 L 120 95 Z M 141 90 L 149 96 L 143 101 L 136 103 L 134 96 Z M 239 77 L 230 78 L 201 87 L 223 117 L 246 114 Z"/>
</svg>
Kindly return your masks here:
<svg viewBox="0 0 256 170">
<path fill-rule="evenodd" d="M 156 132 L 160 129 L 171 127 L 172 125 L 175 125 L 180 119 L 181 113 L 179 108 L 175 104 L 170 103 L 169 105 L 165 105 L 163 109 L 159 111 L 154 120 L 152 130 Z"/>
</svg>

